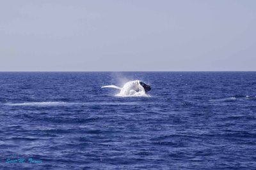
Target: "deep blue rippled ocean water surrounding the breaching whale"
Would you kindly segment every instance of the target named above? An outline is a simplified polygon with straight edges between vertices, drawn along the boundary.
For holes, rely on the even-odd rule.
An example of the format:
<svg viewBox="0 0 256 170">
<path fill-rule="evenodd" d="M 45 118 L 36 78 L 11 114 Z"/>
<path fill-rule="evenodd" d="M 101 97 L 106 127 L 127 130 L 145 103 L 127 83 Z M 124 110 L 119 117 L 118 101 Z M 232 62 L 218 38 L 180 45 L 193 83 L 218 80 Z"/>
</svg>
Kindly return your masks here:
<svg viewBox="0 0 256 170">
<path fill-rule="evenodd" d="M 151 97 L 100 88 L 124 79 Z M 0 169 L 256 169 L 255 87 L 256 72 L 2 72 Z"/>
</svg>

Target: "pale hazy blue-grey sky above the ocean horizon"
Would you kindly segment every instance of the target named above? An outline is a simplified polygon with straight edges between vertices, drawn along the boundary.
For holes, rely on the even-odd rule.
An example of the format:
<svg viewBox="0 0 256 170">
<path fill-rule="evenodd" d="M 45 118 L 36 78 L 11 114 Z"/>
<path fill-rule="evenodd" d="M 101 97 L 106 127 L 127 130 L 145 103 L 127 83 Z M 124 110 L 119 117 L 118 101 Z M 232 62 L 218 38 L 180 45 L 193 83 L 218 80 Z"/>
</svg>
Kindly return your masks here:
<svg viewBox="0 0 256 170">
<path fill-rule="evenodd" d="M 256 1 L 0 1 L 0 71 L 256 71 Z"/>
</svg>

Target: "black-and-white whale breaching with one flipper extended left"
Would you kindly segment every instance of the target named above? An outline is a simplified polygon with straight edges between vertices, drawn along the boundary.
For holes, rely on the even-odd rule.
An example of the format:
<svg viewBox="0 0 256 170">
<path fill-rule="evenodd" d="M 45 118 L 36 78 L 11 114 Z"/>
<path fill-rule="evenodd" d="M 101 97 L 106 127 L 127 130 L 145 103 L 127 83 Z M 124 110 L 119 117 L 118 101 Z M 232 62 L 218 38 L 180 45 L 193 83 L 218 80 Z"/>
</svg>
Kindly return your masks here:
<svg viewBox="0 0 256 170">
<path fill-rule="evenodd" d="M 140 80 L 129 81 L 125 83 L 124 87 L 117 87 L 116 85 L 106 85 L 101 88 L 113 88 L 120 90 L 118 96 L 140 96 L 146 94 L 151 90 L 150 85 L 143 83 Z"/>
</svg>

